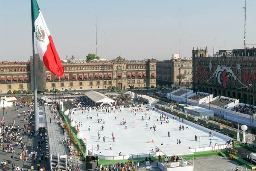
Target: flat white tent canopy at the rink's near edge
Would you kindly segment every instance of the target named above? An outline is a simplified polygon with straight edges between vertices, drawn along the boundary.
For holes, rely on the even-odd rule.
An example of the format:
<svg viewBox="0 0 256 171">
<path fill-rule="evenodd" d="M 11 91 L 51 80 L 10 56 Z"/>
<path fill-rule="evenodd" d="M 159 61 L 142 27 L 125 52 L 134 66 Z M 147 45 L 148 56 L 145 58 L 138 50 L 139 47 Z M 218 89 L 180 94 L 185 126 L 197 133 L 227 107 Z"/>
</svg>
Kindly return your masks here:
<svg viewBox="0 0 256 171">
<path fill-rule="evenodd" d="M 186 148 L 180 144 L 177 146 L 176 145 L 159 145 L 156 147 L 159 148 L 159 150 L 162 151 L 166 156 L 194 154 L 188 148 Z"/>
</svg>

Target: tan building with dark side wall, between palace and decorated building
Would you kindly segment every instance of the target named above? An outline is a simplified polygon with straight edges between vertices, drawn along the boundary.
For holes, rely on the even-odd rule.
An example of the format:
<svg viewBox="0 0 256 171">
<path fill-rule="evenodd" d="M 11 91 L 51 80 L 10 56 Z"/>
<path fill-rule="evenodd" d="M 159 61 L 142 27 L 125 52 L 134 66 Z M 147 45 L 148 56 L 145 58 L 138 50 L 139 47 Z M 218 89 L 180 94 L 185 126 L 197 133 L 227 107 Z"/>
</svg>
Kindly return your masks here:
<svg viewBox="0 0 256 171">
<path fill-rule="evenodd" d="M 177 75 L 186 74 L 185 80 Z M 179 58 L 157 61 L 157 84 L 168 86 L 190 86 L 192 82 L 192 59 Z"/>
</svg>

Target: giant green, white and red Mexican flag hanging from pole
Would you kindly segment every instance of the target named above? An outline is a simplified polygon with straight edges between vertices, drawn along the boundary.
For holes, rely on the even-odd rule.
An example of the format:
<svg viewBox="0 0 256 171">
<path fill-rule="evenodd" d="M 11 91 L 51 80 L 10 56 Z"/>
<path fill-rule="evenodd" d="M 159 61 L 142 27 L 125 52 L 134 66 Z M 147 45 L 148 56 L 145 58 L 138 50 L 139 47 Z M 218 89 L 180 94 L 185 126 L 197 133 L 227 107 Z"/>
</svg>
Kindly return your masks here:
<svg viewBox="0 0 256 171">
<path fill-rule="evenodd" d="M 52 35 L 44 21 L 43 14 L 36 0 L 31 0 L 33 32 L 36 37 L 39 57 L 50 72 L 62 76 L 64 68 L 52 41 Z"/>
</svg>

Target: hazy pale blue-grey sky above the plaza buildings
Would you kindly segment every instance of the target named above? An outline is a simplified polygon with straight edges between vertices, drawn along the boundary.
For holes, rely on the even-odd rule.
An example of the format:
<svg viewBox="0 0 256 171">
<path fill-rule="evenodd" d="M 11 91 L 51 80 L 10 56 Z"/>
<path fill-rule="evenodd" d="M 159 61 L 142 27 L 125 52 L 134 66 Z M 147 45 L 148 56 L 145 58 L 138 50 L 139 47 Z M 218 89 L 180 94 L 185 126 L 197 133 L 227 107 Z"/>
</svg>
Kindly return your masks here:
<svg viewBox="0 0 256 171">
<path fill-rule="evenodd" d="M 96 53 L 107 60 L 168 59 L 192 47 L 212 55 L 243 47 L 244 0 L 38 0 L 61 59 Z M 247 0 L 247 44 L 256 44 L 256 0 Z M 106 36 L 104 36 L 104 31 Z M 105 46 L 106 40 L 106 46 Z M 0 0 L 0 61 L 27 61 L 32 55 L 30 0 Z"/>
</svg>

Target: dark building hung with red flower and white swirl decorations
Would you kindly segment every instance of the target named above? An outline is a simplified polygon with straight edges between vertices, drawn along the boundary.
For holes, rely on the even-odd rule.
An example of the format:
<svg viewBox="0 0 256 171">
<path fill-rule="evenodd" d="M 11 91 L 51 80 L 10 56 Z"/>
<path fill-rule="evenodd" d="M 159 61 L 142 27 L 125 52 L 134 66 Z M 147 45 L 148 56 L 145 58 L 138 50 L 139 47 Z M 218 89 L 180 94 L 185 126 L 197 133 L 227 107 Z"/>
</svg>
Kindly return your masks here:
<svg viewBox="0 0 256 171">
<path fill-rule="evenodd" d="M 255 49 L 233 49 L 233 52 L 219 52 L 222 55 L 209 57 L 207 48 L 193 48 L 193 89 L 255 105 L 255 52 Z"/>
</svg>

